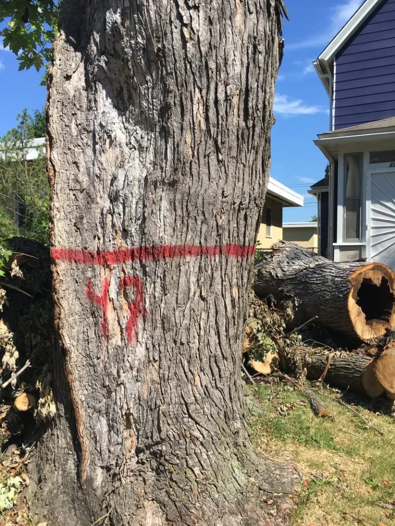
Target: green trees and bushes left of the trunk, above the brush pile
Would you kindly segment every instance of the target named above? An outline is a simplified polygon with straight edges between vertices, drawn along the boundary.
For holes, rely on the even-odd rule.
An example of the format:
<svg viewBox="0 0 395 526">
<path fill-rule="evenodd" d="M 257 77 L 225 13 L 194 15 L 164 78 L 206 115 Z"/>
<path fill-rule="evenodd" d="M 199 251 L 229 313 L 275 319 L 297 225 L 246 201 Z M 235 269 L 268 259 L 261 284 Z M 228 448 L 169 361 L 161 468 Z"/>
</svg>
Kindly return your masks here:
<svg viewBox="0 0 395 526">
<path fill-rule="evenodd" d="M 44 147 L 29 160 L 32 140 L 45 136 L 45 117 L 24 109 L 0 139 L 0 237 L 14 235 L 48 244 L 49 184 Z"/>
</svg>

